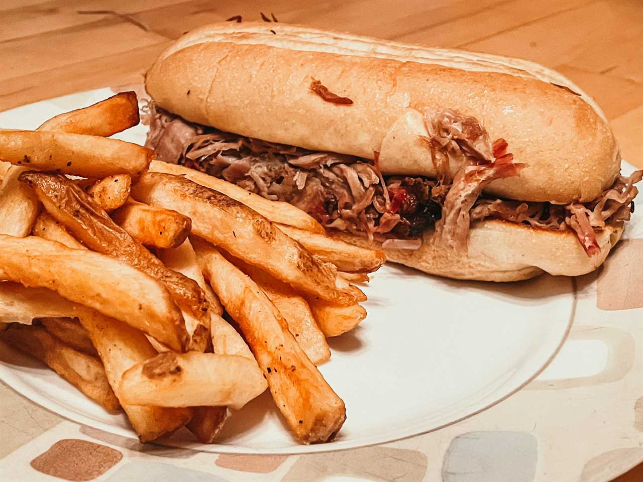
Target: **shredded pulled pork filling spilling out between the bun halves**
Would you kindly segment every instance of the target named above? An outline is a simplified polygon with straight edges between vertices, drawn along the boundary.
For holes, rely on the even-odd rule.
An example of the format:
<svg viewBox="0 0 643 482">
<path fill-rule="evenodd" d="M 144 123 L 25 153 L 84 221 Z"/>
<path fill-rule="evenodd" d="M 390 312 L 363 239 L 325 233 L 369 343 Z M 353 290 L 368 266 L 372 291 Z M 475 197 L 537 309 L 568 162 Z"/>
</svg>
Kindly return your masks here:
<svg viewBox="0 0 643 482">
<path fill-rule="evenodd" d="M 584 204 L 489 199 L 482 194 L 487 184 L 519 175 L 526 165 L 514 162 L 506 141 L 492 143 L 475 118 L 454 111 L 428 116 L 429 135 L 419 139 L 436 167 L 435 180 L 384 177 L 377 153 L 370 161 L 247 138 L 190 123 L 154 103 L 145 121 L 150 125 L 146 146 L 162 161 L 289 202 L 325 228 L 398 249 L 417 249 L 422 233 L 433 228 L 437 244 L 466 250 L 470 222 L 500 219 L 539 229 L 571 229 L 592 255 L 600 250 L 595 229 L 629 219 L 638 193 L 634 184 L 643 177 L 640 171 L 619 177 L 599 199 Z"/>
</svg>

